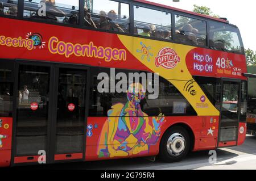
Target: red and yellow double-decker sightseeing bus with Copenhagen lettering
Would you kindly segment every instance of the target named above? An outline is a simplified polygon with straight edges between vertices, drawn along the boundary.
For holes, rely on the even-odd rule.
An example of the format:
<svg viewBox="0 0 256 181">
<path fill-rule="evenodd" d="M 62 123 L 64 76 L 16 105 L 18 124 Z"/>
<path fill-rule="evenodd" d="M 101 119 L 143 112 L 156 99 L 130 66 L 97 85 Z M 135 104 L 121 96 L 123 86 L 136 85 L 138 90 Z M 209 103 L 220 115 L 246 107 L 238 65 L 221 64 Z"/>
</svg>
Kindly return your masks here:
<svg viewBox="0 0 256 181">
<path fill-rule="evenodd" d="M 134 0 L 0 0 L 0 166 L 243 144 L 247 69 L 225 19 Z"/>
</svg>

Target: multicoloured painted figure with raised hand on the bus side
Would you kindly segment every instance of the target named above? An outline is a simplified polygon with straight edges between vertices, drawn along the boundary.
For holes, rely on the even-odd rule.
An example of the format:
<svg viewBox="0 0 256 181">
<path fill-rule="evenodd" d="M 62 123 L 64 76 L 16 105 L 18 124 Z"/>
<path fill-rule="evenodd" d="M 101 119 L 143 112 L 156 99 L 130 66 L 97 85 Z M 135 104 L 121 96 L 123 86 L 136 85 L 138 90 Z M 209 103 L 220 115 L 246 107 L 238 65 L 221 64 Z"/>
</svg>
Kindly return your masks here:
<svg viewBox="0 0 256 181">
<path fill-rule="evenodd" d="M 165 118 L 162 113 L 158 117 L 148 117 L 141 110 L 139 103 L 145 96 L 141 83 L 133 83 L 127 90 L 127 103 L 117 103 L 108 111 L 98 140 L 99 158 L 147 154 L 150 145 L 159 140 Z"/>
</svg>

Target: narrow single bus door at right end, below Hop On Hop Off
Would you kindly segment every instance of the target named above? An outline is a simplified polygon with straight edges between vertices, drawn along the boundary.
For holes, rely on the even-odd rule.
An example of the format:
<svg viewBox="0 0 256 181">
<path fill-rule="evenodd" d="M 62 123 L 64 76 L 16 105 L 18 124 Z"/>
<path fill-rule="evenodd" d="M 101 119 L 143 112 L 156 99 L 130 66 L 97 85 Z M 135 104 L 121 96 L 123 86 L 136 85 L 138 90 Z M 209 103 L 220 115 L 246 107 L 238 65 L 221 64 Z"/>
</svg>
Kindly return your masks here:
<svg viewBox="0 0 256 181">
<path fill-rule="evenodd" d="M 222 80 L 222 104 L 218 147 L 236 146 L 238 139 L 241 81 Z"/>
</svg>

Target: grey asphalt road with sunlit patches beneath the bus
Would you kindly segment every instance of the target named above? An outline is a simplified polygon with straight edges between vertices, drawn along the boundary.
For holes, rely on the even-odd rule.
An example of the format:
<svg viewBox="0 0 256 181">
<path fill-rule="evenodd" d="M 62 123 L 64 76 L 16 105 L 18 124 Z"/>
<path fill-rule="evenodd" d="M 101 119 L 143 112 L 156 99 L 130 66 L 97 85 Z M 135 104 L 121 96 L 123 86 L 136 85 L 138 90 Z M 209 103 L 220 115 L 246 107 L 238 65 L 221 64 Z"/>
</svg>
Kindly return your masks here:
<svg viewBox="0 0 256 181">
<path fill-rule="evenodd" d="M 110 161 L 65 163 L 42 166 L 23 166 L 15 169 L 102 169 L 102 170 L 183 170 L 183 169 L 245 169 L 256 170 L 256 136 L 247 136 L 243 145 L 236 148 L 217 150 L 217 163 L 211 165 L 208 161 L 209 151 L 189 153 L 187 158 L 178 163 L 165 163 L 158 159 L 155 162 L 145 158 L 115 159 Z"/>
</svg>

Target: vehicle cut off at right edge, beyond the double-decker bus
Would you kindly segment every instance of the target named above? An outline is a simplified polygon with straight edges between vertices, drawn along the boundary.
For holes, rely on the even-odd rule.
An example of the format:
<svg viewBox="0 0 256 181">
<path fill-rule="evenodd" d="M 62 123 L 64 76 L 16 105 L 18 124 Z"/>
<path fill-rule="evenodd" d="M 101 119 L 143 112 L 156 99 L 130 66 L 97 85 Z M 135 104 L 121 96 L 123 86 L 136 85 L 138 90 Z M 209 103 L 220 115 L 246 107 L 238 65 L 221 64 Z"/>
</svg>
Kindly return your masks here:
<svg viewBox="0 0 256 181">
<path fill-rule="evenodd" d="M 256 66 L 250 65 L 247 67 L 247 71 L 250 74 L 256 74 Z M 256 77 L 250 77 L 248 79 L 248 106 L 247 106 L 247 134 L 256 136 L 256 92 L 255 92 L 255 79 Z"/>
</svg>

